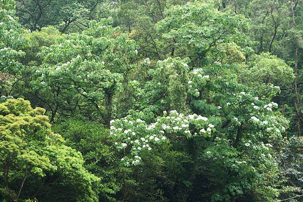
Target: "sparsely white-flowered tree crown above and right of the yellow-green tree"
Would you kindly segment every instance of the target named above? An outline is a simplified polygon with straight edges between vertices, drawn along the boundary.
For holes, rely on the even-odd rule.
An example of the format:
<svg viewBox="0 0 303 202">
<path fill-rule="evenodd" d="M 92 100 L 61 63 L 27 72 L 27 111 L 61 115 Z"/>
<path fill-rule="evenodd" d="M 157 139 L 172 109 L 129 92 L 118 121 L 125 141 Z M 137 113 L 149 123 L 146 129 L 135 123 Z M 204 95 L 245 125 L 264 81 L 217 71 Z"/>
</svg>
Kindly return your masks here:
<svg viewBox="0 0 303 202">
<path fill-rule="evenodd" d="M 65 35 L 38 54 L 42 65 L 33 68 L 36 79 L 28 82 L 35 92 L 45 92 L 37 95 L 37 103 L 44 103 L 51 121 L 80 109 L 92 119 L 102 115 L 109 124 L 114 96 L 123 91 L 137 53 L 135 42 L 111 23 L 110 18 L 91 21 L 89 29 Z"/>
</svg>

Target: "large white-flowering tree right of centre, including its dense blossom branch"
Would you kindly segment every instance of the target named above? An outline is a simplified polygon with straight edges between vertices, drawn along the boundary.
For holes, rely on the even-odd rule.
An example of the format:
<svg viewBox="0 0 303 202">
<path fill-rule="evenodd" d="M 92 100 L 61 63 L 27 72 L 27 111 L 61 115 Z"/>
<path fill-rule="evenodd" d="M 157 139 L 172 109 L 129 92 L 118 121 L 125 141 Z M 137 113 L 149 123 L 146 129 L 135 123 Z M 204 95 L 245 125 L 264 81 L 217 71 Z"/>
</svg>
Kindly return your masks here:
<svg viewBox="0 0 303 202">
<path fill-rule="evenodd" d="M 275 185 L 266 188 L 265 184 L 268 175 L 277 178 L 273 145 L 280 144 L 288 126 L 287 120 L 275 111 L 278 105 L 270 101 L 279 88 L 265 84 L 255 90 L 240 84 L 229 65 L 216 63 L 190 70 L 189 62 L 180 58 L 158 61 L 156 68 L 149 71 L 148 82 L 132 83 L 134 96 L 143 103 L 138 106 L 146 106 L 145 109 L 131 110 L 130 115 L 111 121 L 111 135 L 124 154 L 123 164 L 140 165 L 144 161 L 142 154 L 153 150 L 154 145 L 177 145 L 177 139 L 185 137 L 199 146 L 197 153 L 203 157 L 192 156 L 197 165 L 207 162 L 210 175 L 222 178 L 210 182 L 214 200 L 229 200 L 251 189 L 258 195 L 257 186 L 278 196 Z M 150 65 L 148 60 L 144 65 Z M 170 89 L 181 88 L 182 93 L 174 94 L 178 96 L 166 96 Z M 178 106 L 186 106 L 180 107 L 183 113 L 174 110 Z M 169 112 L 162 115 L 160 110 Z M 215 186 L 224 189 L 220 191 Z"/>
</svg>

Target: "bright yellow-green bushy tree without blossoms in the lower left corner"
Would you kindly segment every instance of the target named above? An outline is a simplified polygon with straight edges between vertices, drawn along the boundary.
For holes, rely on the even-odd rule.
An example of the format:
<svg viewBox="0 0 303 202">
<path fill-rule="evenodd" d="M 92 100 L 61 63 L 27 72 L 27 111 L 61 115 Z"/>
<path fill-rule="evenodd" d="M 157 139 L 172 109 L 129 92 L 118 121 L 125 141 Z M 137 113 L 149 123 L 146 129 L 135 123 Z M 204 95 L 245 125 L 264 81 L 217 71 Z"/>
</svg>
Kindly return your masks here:
<svg viewBox="0 0 303 202">
<path fill-rule="evenodd" d="M 44 112 L 42 108 L 32 109 L 29 101 L 23 99 L 0 103 L 2 193 L 18 201 L 29 197 L 22 194 L 23 189 L 29 190 L 25 187 L 30 186 L 27 181 L 40 183 L 48 176 L 58 175 L 63 187 L 72 185 L 83 194 L 67 198 L 96 201 L 89 190 L 98 178 L 83 168 L 81 153 L 65 146 L 63 138 L 52 132 Z M 33 182 L 35 178 L 37 181 Z"/>
</svg>

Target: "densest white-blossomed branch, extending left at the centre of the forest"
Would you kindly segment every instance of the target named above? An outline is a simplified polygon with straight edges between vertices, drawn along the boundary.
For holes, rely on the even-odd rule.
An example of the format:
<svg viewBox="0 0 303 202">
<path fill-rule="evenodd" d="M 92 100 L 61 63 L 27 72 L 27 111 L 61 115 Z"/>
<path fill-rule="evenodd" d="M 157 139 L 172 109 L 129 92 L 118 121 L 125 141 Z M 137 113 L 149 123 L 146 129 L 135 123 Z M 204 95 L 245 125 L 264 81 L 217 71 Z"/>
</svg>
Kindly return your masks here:
<svg viewBox="0 0 303 202">
<path fill-rule="evenodd" d="M 140 118 L 133 118 L 128 115 L 121 119 L 111 120 L 110 134 L 119 141 L 115 142 L 118 149 L 130 148 L 130 154 L 135 156 L 143 150 L 151 150 L 150 145 L 162 144 L 168 141 L 166 135 L 177 134 L 185 137 L 209 136 L 215 131 L 215 126 L 208 123 L 205 116 L 190 114 L 184 115 L 173 110 L 167 115 L 158 117 L 155 123 L 146 124 Z M 128 164 L 136 165 L 140 158 L 133 160 L 126 159 Z M 134 163 L 133 163 L 134 162 Z"/>
</svg>

